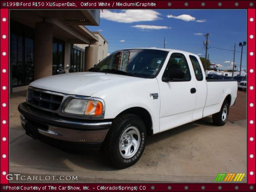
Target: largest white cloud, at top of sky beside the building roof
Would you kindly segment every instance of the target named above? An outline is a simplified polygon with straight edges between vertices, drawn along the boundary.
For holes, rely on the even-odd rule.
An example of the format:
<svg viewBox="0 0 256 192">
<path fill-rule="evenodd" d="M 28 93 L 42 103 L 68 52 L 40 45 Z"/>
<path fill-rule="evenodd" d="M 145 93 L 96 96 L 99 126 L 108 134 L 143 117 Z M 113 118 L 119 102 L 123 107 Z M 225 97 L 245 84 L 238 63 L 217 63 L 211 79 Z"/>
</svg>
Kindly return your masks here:
<svg viewBox="0 0 256 192">
<path fill-rule="evenodd" d="M 121 22 L 121 23 L 133 23 L 141 21 L 154 21 L 161 19 L 159 16 L 161 14 L 154 10 L 122 10 L 121 12 L 112 12 L 110 10 L 104 10 L 100 13 L 100 18 Z"/>
</svg>

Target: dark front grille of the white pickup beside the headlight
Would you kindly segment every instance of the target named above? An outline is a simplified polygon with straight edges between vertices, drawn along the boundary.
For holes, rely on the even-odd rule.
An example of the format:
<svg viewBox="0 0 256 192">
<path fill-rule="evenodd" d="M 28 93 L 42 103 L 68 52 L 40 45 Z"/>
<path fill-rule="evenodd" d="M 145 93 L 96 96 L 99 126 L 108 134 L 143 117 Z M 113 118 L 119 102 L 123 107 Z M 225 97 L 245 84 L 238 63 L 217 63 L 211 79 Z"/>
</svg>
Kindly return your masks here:
<svg viewBox="0 0 256 192">
<path fill-rule="evenodd" d="M 63 96 L 47 93 L 40 89 L 28 89 L 28 104 L 38 108 L 56 111 L 60 107 Z"/>
</svg>

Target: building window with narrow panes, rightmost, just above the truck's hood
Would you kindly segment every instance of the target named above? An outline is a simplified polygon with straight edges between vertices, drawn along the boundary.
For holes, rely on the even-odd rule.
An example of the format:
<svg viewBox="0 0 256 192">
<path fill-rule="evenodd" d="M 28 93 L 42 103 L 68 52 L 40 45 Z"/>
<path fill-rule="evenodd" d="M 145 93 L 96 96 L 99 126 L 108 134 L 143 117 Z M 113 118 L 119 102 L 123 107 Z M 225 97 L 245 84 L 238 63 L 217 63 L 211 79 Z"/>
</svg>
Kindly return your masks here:
<svg viewBox="0 0 256 192">
<path fill-rule="evenodd" d="M 69 72 L 84 72 L 84 50 L 74 45 L 70 49 Z"/>
</svg>

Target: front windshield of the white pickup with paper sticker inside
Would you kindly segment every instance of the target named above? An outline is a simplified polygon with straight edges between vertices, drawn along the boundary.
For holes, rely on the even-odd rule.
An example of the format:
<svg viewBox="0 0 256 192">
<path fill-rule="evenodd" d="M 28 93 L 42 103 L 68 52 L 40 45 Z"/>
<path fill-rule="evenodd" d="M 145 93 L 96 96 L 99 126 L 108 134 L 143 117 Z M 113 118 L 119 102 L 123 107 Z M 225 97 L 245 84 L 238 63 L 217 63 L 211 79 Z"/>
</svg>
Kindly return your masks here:
<svg viewBox="0 0 256 192">
<path fill-rule="evenodd" d="M 154 78 L 161 69 L 167 54 L 167 51 L 162 50 L 120 50 L 110 54 L 89 71 Z"/>
</svg>

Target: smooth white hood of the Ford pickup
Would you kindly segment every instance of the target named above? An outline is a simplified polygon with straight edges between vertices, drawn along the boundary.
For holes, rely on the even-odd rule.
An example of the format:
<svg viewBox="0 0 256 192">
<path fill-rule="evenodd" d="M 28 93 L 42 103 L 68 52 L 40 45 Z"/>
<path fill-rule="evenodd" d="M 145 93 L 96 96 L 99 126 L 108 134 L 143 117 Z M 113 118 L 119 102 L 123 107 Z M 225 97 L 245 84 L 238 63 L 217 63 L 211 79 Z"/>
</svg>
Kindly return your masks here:
<svg viewBox="0 0 256 192">
<path fill-rule="evenodd" d="M 91 96 L 99 90 L 141 79 L 101 72 L 76 72 L 44 77 L 31 82 L 29 86 L 65 94 Z"/>
</svg>

